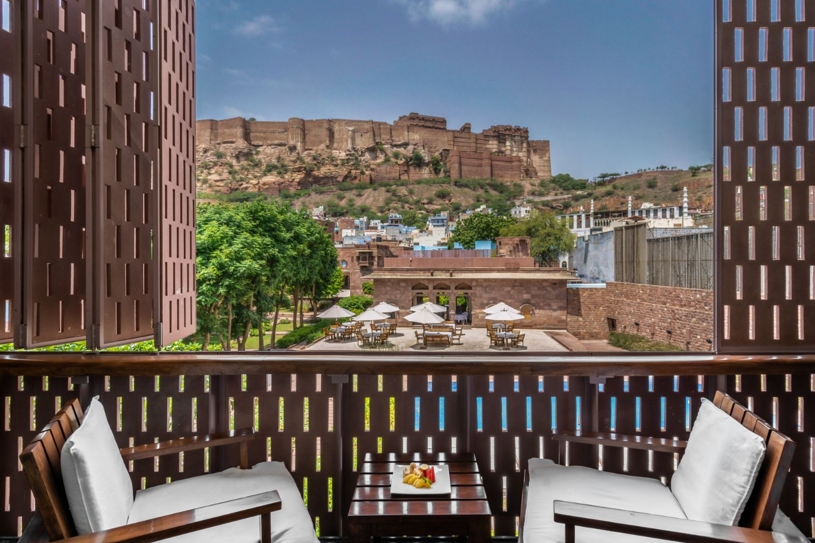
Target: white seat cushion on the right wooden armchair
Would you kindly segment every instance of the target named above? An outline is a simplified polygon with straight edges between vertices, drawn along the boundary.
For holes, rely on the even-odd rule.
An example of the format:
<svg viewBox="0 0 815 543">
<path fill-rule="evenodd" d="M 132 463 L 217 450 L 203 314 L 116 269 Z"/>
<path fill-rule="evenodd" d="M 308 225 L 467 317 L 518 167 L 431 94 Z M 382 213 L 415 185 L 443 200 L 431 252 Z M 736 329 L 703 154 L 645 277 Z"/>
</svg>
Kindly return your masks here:
<svg viewBox="0 0 815 543">
<path fill-rule="evenodd" d="M 684 519 L 682 508 L 659 480 L 597 471 L 583 466 L 558 466 L 548 459 L 529 461 L 529 491 L 522 543 L 562 543 L 564 525 L 555 523 L 553 501 L 575 501 Z M 580 543 L 645 543 L 650 537 L 575 528 Z"/>
</svg>

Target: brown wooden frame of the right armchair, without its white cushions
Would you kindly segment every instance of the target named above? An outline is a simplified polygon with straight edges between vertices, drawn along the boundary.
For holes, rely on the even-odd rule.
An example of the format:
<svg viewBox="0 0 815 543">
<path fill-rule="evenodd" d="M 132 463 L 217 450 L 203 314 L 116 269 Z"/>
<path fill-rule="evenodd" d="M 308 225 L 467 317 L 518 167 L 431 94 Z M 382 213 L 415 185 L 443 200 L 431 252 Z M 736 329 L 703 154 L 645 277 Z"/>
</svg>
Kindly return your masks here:
<svg viewBox="0 0 815 543">
<path fill-rule="evenodd" d="M 571 501 L 553 501 L 553 520 L 565 525 L 566 543 L 575 542 L 575 527 L 593 528 L 631 536 L 647 536 L 668 541 L 733 541 L 741 543 L 771 543 L 781 541 L 807 541 L 800 536 L 769 532 L 778 510 L 778 499 L 790 468 L 795 443 L 781 432 L 770 427 L 762 418 L 738 404 L 732 397 L 716 392 L 713 405 L 734 418 L 742 427 L 760 436 L 766 444 L 764 460 L 756 483 L 744 507 L 738 526 L 706 523 L 672 516 L 654 515 L 632 510 L 586 505 Z M 561 444 L 590 444 L 604 447 L 645 449 L 660 453 L 682 454 L 686 441 L 657 439 L 643 436 L 623 436 L 614 433 L 585 431 L 553 431 L 553 439 Z M 560 469 L 560 468 L 557 468 Z M 586 468 L 581 468 L 586 469 Z M 619 476 L 619 475 L 617 475 Z M 623 475 L 629 478 L 628 475 Z M 631 479 L 641 479 L 631 477 Z M 670 492 L 670 491 L 667 491 Z M 521 531 L 518 541 L 524 540 L 524 526 L 529 521 L 526 508 L 529 505 L 530 475 L 524 476 L 521 504 Z M 540 504 L 539 504 L 540 505 Z M 625 504 L 622 504 L 623 506 Z M 540 507 L 536 510 L 540 514 Z M 563 533 L 563 532 L 561 532 Z M 591 539 L 590 541 L 596 541 Z"/>
</svg>

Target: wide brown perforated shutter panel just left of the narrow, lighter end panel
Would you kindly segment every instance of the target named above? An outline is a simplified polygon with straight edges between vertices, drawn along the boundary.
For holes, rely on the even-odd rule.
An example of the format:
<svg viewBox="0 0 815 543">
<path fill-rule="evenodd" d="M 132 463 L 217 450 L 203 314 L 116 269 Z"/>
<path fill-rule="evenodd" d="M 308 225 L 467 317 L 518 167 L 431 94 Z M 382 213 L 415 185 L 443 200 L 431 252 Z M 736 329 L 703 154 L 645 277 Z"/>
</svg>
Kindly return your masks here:
<svg viewBox="0 0 815 543">
<path fill-rule="evenodd" d="M 152 103 L 156 73 L 155 8 L 143 0 L 100 2 L 95 21 L 102 55 L 93 107 L 101 127 L 92 179 L 93 334 L 95 347 L 150 339 L 152 251 L 150 208 L 158 142 Z M 97 166 L 98 164 L 98 166 Z"/>
</svg>

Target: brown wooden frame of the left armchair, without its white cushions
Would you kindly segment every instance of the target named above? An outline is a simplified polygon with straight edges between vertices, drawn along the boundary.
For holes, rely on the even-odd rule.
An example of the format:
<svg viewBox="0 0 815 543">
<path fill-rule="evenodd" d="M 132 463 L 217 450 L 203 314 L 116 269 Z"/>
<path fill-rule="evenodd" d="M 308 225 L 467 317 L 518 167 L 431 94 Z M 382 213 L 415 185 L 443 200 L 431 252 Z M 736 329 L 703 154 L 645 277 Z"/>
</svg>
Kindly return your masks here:
<svg viewBox="0 0 815 543">
<path fill-rule="evenodd" d="M 29 480 L 34 499 L 37 501 L 37 512 L 20 538 L 20 543 L 160 541 L 166 537 L 180 536 L 258 516 L 260 517 L 261 541 L 270 543 L 271 513 L 280 510 L 282 506 L 280 496 L 274 490 L 77 536 L 65 497 L 60 458 L 63 444 L 80 427 L 83 417 L 79 401 L 74 399 L 68 402 L 20 454 L 25 476 Z M 193 436 L 128 447 L 120 449 L 120 452 L 122 460 L 127 462 L 205 447 L 239 444 L 240 468 L 248 469 L 248 442 L 253 437 L 253 429 L 245 428 L 209 436 Z"/>
</svg>

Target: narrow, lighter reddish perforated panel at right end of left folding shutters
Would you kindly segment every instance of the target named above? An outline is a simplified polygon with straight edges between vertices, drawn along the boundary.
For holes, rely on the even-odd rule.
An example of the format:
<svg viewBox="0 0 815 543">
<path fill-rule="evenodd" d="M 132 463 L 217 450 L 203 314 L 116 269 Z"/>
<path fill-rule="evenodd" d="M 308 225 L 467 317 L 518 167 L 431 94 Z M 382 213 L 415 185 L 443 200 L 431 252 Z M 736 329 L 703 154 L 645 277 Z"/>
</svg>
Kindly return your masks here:
<svg viewBox="0 0 815 543">
<path fill-rule="evenodd" d="M 163 344 L 196 331 L 195 4 L 161 2 L 161 176 L 156 336 Z"/>
</svg>

